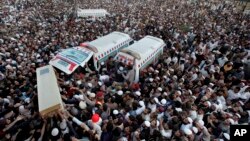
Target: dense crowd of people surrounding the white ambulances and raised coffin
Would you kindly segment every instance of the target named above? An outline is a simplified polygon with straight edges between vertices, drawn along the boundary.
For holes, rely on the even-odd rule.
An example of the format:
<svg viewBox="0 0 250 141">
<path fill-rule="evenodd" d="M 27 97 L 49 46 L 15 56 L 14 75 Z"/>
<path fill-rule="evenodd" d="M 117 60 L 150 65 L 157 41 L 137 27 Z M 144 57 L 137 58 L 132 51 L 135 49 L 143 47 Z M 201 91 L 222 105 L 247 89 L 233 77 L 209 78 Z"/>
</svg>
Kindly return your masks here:
<svg viewBox="0 0 250 141">
<path fill-rule="evenodd" d="M 3 0 L 0 140 L 227 141 L 250 123 L 250 18 L 233 0 L 84 0 L 105 18 L 76 18 L 76 1 Z M 71 10 L 70 10 L 71 9 Z M 36 68 L 61 49 L 112 31 L 166 42 L 131 83 L 114 58 L 98 71 L 57 71 L 64 109 L 38 110 Z"/>
</svg>

